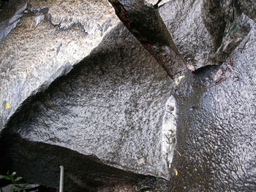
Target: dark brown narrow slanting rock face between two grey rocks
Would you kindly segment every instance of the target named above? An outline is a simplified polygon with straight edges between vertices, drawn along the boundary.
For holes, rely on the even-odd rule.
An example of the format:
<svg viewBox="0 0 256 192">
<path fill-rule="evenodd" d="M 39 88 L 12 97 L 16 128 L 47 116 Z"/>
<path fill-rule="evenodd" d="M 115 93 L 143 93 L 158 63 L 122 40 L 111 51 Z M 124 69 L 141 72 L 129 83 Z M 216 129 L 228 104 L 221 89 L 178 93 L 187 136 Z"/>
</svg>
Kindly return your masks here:
<svg viewBox="0 0 256 192">
<path fill-rule="evenodd" d="M 173 76 L 186 68 L 178 49 L 158 12 L 145 1 L 109 0 L 116 15 L 165 72 Z"/>
</svg>

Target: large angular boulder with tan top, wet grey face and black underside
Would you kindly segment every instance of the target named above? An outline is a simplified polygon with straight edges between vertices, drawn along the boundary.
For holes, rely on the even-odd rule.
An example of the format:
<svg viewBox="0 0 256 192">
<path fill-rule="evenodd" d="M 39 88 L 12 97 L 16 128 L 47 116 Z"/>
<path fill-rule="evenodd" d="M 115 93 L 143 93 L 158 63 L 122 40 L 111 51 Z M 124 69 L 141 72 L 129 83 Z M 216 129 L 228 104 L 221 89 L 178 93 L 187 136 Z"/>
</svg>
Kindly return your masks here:
<svg viewBox="0 0 256 192">
<path fill-rule="evenodd" d="M 69 191 L 169 179 L 173 82 L 107 1 L 22 6 L 0 45 L 1 173 L 58 187 L 63 164 Z"/>
</svg>

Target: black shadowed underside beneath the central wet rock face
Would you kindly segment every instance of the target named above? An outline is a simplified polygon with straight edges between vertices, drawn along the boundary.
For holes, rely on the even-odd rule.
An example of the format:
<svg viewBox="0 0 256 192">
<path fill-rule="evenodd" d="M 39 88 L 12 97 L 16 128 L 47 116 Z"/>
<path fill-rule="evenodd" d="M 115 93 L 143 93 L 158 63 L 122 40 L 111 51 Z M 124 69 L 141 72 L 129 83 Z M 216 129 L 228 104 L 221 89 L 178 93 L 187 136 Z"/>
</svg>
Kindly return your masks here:
<svg viewBox="0 0 256 192">
<path fill-rule="evenodd" d="M 97 187 L 135 183 L 145 175 L 124 172 L 100 163 L 94 155 L 42 142 L 31 142 L 7 129 L 0 140 L 0 174 L 17 172 L 29 183 L 59 187 L 59 166 L 65 169 L 65 191 L 95 191 Z M 74 166 L 75 164 L 75 166 Z"/>
</svg>

